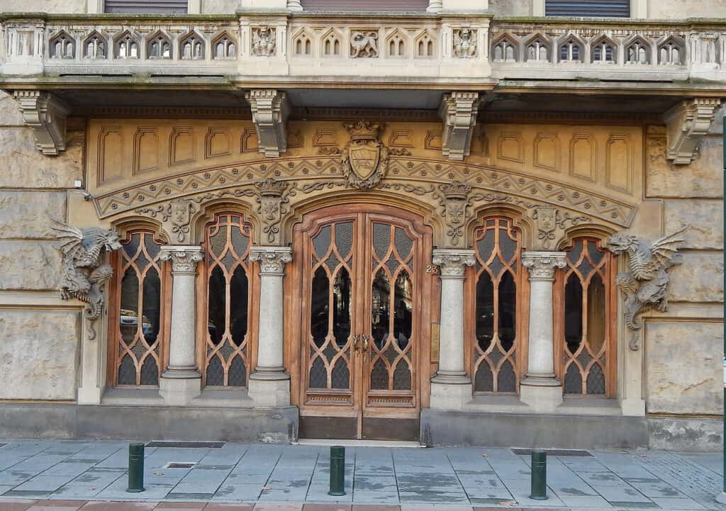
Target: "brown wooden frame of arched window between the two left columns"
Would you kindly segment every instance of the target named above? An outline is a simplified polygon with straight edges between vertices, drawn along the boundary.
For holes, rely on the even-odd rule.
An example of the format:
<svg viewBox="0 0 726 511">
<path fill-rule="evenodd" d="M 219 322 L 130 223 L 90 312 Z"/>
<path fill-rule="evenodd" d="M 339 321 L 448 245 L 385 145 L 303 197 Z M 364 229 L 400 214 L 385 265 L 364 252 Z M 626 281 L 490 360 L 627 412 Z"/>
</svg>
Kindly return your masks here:
<svg viewBox="0 0 726 511">
<path fill-rule="evenodd" d="M 248 237 L 248 245 L 243 254 L 237 254 L 244 258 L 244 263 L 237 265 L 242 266 L 245 269 L 248 282 L 248 303 L 247 303 L 247 332 L 245 334 L 245 340 L 242 341 L 240 346 L 237 348 L 233 347 L 233 353 L 223 361 L 222 368 L 224 370 L 224 385 L 210 385 L 207 382 L 207 369 L 209 362 L 213 357 L 217 356 L 216 353 L 219 350 L 213 348 L 211 343 L 210 333 L 208 330 L 209 324 L 209 282 L 211 273 L 216 266 L 214 258 L 210 260 L 210 253 L 208 250 L 209 246 L 209 233 L 210 229 L 219 223 L 221 217 L 239 217 L 240 223 L 245 226 L 246 237 Z M 203 387 L 217 388 L 217 389 L 234 389 L 234 390 L 245 390 L 247 388 L 250 378 L 250 373 L 257 365 L 257 334 L 258 334 L 258 316 L 259 316 L 259 303 L 255 297 L 259 296 L 259 275 L 258 266 L 249 261 L 250 248 L 255 245 L 254 233 L 255 228 L 248 213 L 237 209 L 237 208 L 222 208 L 217 209 L 208 217 L 208 221 L 203 224 L 202 247 L 204 249 L 204 261 L 200 263 L 200 271 L 197 275 L 197 364 L 202 374 L 202 385 Z M 231 275 L 229 277 L 232 278 Z M 229 297 L 227 297 L 229 298 Z M 224 343 L 226 338 L 223 338 Z M 231 345 L 230 345 L 231 346 Z M 209 351 L 211 348 L 212 351 Z M 229 383 L 229 364 L 232 358 L 240 353 L 242 361 L 245 364 L 245 384 L 244 385 L 228 385 Z M 219 356 L 217 356 L 219 358 Z"/>
</svg>

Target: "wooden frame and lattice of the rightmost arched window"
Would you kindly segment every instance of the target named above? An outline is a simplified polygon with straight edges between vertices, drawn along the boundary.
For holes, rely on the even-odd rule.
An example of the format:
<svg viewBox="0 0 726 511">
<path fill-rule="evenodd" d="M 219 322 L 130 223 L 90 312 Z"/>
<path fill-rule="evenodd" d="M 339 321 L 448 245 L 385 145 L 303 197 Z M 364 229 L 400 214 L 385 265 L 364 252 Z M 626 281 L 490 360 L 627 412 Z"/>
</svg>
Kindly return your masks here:
<svg viewBox="0 0 726 511">
<path fill-rule="evenodd" d="M 582 277 L 582 273 L 576 268 L 576 262 L 572 261 L 570 254 L 574 250 L 577 243 L 582 242 L 583 246 L 587 246 L 587 242 L 594 242 L 598 252 L 603 255 L 603 259 L 597 264 L 597 267 L 590 271 L 586 277 Z M 616 256 L 613 255 L 609 250 L 605 248 L 605 242 L 597 236 L 583 234 L 576 237 L 572 237 L 568 245 L 563 248 L 563 252 L 568 254 L 567 266 L 565 269 L 558 271 L 555 274 L 555 289 L 554 289 L 554 303 L 555 303 L 555 317 L 554 317 L 554 330 L 555 330 L 555 373 L 563 383 L 563 393 L 566 397 L 607 397 L 613 398 L 617 393 L 617 308 L 618 308 L 618 293 L 615 286 L 615 277 L 617 274 Z M 578 260 L 582 261 L 584 255 L 580 253 Z M 592 364 L 597 363 L 596 361 L 588 361 L 585 367 L 582 367 L 582 363 L 576 364 L 574 360 L 577 357 L 578 352 L 582 352 L 582 349 L 589 346 L 578 348 L 576 353 L 569 353 L 566 347 L 565 340 L 565 289 L 567 280 L 571 274 L 576 274 L 581 282 L 590 284 L 592 278 L 595 275 L 595 271 L 598 271 L 600 278 L 603 280 L 603 287 L 605 288 L 605 340 L 603 343 L 602 356 L 597 357 L 603 367 L 603 375 L 605 377 L 605 393 L 587 393 L 587 375 L 590 374 Z M 587 288 L 582 290 L 583 305 L 587 306 Z M 587 310 L 583 308 L 583 324 L 587 324 Z M 587 329 L 583 326 L 584 330 Z M 583 338 L 586 337 L 587 332 L 583 332 Z M 587 342 L 587 340 L 585 340 Z M 597 353 L 595 353 L 597 355 Z M 567 385 L 565 382 L 566 372 L 570 365 L 575 364 L 575 367 L 579 369 L 581 375 L 582 392 L 573 393 L 567 392 Z"/>
</svg>

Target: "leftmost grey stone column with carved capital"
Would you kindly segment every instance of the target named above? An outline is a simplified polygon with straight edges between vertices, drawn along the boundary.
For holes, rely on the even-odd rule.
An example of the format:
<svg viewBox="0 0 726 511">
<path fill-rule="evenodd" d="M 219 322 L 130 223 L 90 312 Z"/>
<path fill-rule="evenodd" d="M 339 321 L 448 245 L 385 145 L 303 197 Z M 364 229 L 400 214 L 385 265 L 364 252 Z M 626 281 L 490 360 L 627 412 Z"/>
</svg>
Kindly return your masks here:
<svg viewBox="0 0 726 511">
<path fill-rule="evenodd" d="M 171 261 L 171 341 L 169 366 L 159 380 L 159 393 L 166 404 L 188 404 L 202 391 L 197 370 L 197 263 L 203 259 L 198 245 L 166 245 L 159 255 Z"/>
</svg>

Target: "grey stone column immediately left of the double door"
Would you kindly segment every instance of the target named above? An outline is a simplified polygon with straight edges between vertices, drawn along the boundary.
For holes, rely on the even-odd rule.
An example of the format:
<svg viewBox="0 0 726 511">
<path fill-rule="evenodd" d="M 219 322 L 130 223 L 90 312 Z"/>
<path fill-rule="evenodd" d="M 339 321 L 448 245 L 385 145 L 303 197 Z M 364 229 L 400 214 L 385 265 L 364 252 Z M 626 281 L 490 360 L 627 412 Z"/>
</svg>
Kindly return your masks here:
<svg viewBox="0 0 726 511">
<path fill-rule="evenodd" d="M 285 372 L 282 279 L 285 264 L 293 260 L 287 247 L 253 247 L 250 261 L 260 264 L 260 316 L 257 368 L 250 375 L 250 398 L 255 406 L 273 408 L 290 404 L 290 375 Z"/>
</svg>

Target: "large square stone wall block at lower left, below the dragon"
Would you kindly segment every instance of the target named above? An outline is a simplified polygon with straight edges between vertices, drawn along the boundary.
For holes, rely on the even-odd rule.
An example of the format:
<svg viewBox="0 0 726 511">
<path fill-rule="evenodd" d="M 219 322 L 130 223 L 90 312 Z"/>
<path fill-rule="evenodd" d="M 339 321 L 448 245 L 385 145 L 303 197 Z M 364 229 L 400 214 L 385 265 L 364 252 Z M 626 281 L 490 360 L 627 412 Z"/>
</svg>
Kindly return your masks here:
<svg viewBox="0 0 726 511">
<path fill-rule="evenodd" d="M 0 398 L 75 399 L 79 313 L 0 310 Z"/>
</svg>

